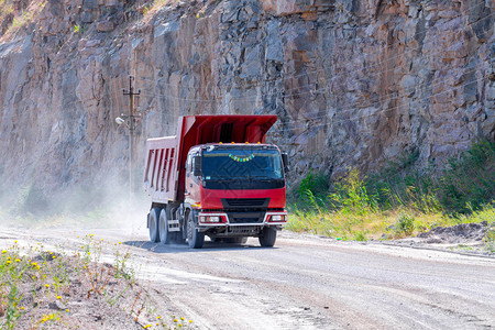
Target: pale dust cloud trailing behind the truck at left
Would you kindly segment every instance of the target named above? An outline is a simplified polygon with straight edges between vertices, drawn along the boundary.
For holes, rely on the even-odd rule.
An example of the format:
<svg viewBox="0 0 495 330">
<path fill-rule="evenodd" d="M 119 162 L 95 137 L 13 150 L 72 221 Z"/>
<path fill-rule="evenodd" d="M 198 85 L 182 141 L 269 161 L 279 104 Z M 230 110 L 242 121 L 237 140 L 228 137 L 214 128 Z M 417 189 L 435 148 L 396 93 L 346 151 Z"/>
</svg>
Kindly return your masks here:
<svg viewBox="0 0 495 330">
<path fill-rule="evenodd" d="M 138 179 L 138 178 L 136 178 Z M 79 184 L 47 191 L 30 184 L 0 188 L 0 226 L 10 228 L 67 228 L 70 230 L 119 229 L 128 234 L 146 234 L 151 199 L 135 185 L 116 180 L 98 185 Z"/>
</svg>

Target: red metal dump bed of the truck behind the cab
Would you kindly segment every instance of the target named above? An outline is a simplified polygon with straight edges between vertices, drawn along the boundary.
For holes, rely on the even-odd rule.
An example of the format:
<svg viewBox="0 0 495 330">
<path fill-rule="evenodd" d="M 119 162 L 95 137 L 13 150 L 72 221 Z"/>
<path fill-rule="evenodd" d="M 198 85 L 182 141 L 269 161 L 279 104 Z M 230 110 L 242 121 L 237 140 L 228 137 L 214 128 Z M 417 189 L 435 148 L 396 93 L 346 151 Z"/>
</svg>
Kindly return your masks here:
<svg viewBox="0 0 495 330">
<path fill-rule="evenodd" d="M 177 135 L 148 139 L 144 188 L 153 202 L 184 200 L 185 164 L 190 147 L 205 143 L 264 143 L 276 116 L 187 116 Z"/>
</svg>

